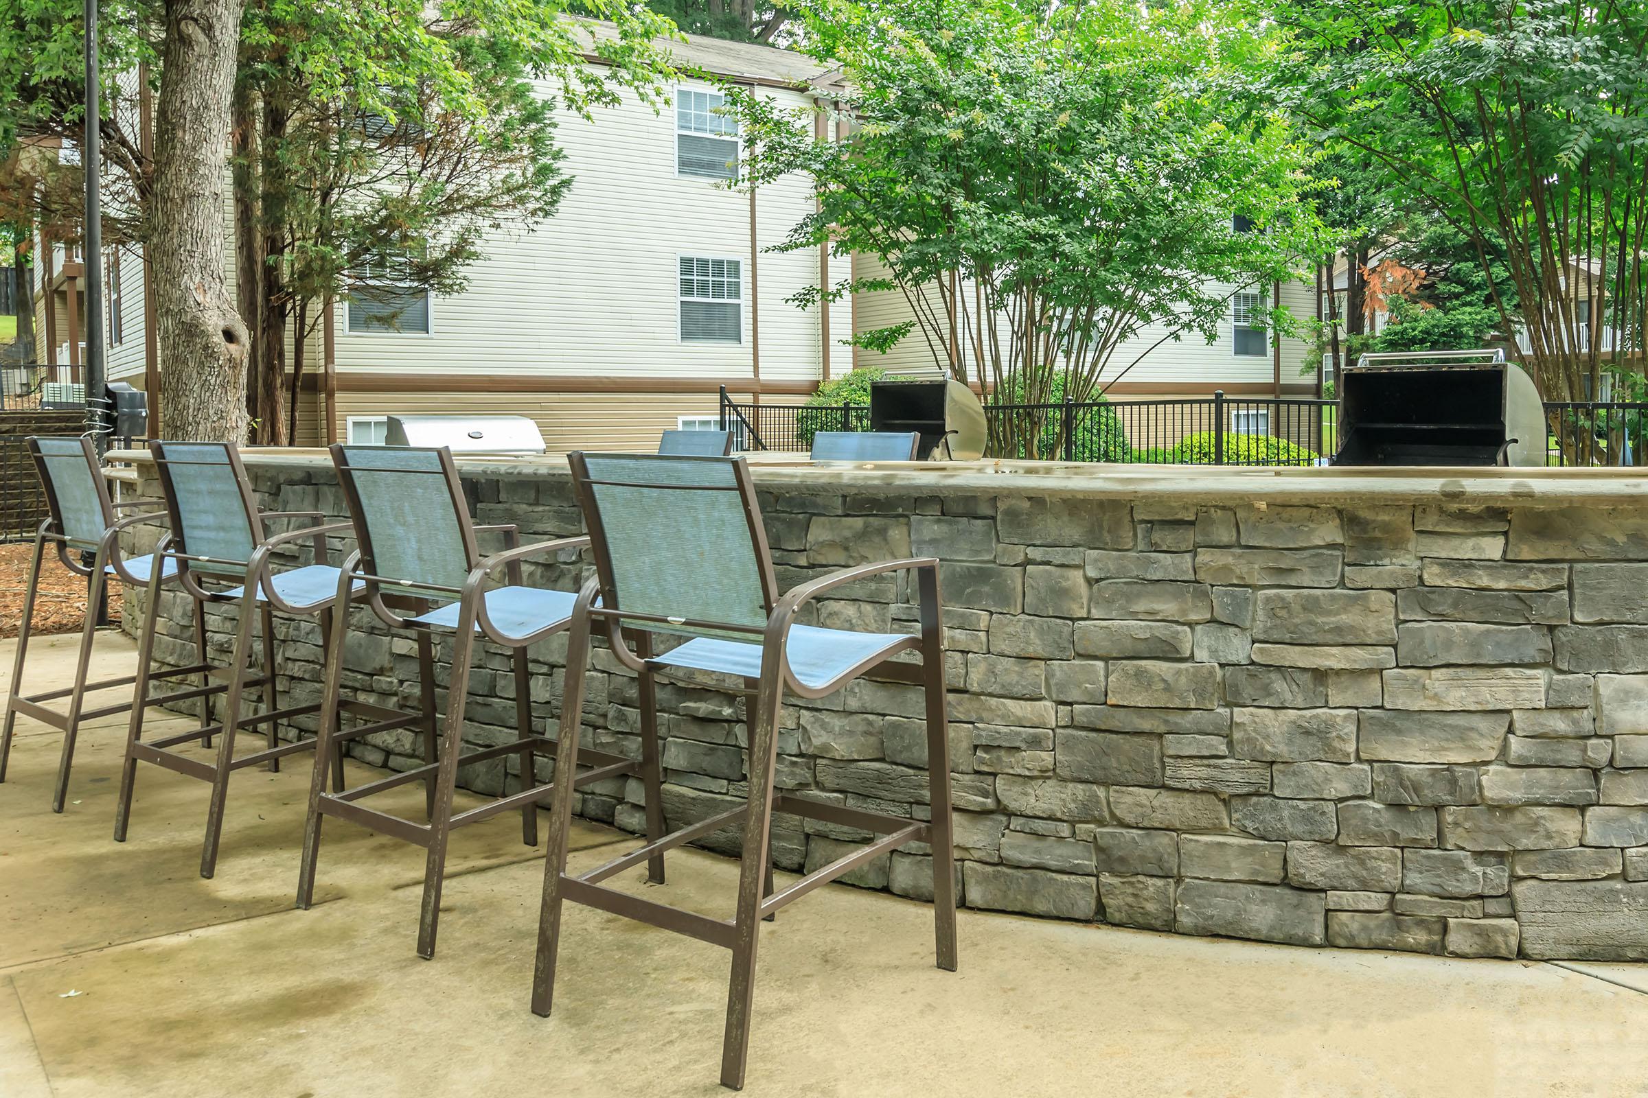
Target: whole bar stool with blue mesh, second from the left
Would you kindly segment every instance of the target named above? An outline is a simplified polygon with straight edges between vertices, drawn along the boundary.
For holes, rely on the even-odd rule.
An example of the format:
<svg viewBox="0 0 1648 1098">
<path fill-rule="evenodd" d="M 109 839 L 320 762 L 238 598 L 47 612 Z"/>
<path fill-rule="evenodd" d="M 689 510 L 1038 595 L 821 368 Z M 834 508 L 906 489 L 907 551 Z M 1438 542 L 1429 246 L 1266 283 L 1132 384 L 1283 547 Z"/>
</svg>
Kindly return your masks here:
<svg viewBox="0 0 1648 1098">
<path fill-rule="evenodd" d="M 211 802 L 206 810 L 206 838 L 201 846 L 201 876 L 211 877 L 218 866 L 218 841 L 229 797 L 229 775 L 257 764 L 269 764 L 270 770 L 279 770 L 283 756 L 310 751 L 320 742 L 315 737 L 280 742 L 279 721 L 318 713 L 320 703 L 280 708 L 275 690 L 274 614 L 318 617 L 321 644 L 326 644 L 330 619 L 338 603 L 336 579 L 339 575 L 338 568 L 326 563 L 326 535 L 348 533 L 349 523 L 321 525 L 323 515 L 318 512 L 259 510 L 252 486 L 246 477 L 246 468 L 241 464 L 241 454 L 229 443 L 152 441 L 148 449 L 155 458 L 155 469 L 160 474 L 166 510 L 171 517 L 171 545 L 157 553 L 157 558 L 168 565 L 175 563 L 178 586 L 194 601 L 196 614 L 203 612 L 208 603 L 234 604 L 236 630 L 229 667 L 224 668 L 227 691 L 221 723 L 145 741 L 143 710 L 133 708 L 127 729 L 125 765 L 120 772 L 114 838 L 117 843 L 125 841 L 138 762 L 153 762 L 168 770 L 209 782 Z M 264 527 L 270 519 L 305 519 L 311 525 L 270 537 Z M 270 566 L 274 553 L 302 540 L 313 543 L 315 563 L 274 571 Z M 206 586 L 231 581 L 239 583 L 227 589 Z M 160 619 L 155 598 L 158 576 L 153 571 L 148 589 L 150 612 L 138 635 L 137 700 L 153 705 L 148 701 L 148 680 L 153 677 L 150 665 Z M 346 593 L 344 601 L 349 598 Z M 254 621 L 262 627 L 262 670 L 250 667 Z M 330 652 L 323 655 L 328 662 L 333 657 L 335 654 Z M 262 703 L 262 710 L 252 714 L 241 711 L 244 693 L 249 688 L 259 691 Z M 376 724 L 358 729 L 351 736 L 404 728 L 417 719 L 414 714 L 359 701 L 351 701 L 349 706 L 376 721 Z M 236 757 L 234 747 L 239 731 L 259 724 L 265 728 L 267 746 L 262 751 Z M 204 762 L 198 756 L 178 751 L 218 731 L 222 736 L 218 742 L 216 762 Z M 335 744 L 335 749 L 341 752 L 341 744 Z M 339 765 L 338 779 L 341 780 L 341 777 L 343 767 Z"/>
</svg>

